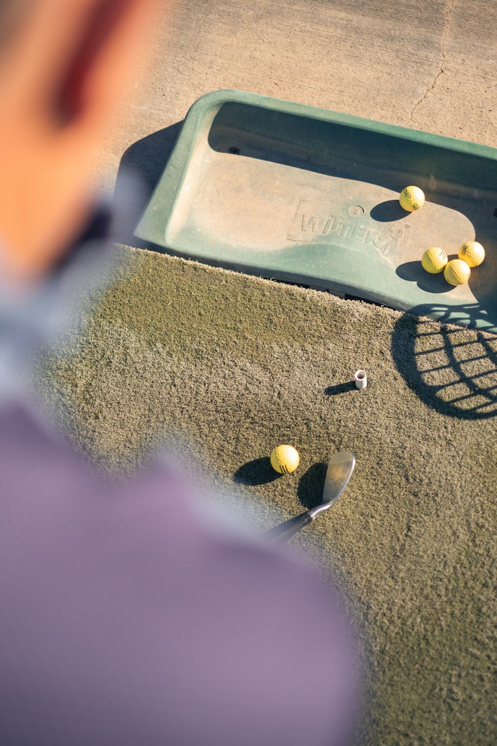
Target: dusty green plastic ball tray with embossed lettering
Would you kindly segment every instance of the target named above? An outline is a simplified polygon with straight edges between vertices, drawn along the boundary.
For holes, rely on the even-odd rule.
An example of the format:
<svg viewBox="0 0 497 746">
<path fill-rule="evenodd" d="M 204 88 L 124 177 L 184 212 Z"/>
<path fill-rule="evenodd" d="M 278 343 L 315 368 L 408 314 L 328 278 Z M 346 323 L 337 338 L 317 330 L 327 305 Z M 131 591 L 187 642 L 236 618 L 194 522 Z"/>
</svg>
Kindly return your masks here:
<svg viewBox="0 0 497 746">
<path fill-rule="evenodd" d="M 139 245 L 497 332 L 497 149 L 221 90 L 190 108 L 136 228 Z M 407 213 L 404 186 L 426 202 Z M 484 263 L 453 287 L 440 246 Z"/>
</svg>

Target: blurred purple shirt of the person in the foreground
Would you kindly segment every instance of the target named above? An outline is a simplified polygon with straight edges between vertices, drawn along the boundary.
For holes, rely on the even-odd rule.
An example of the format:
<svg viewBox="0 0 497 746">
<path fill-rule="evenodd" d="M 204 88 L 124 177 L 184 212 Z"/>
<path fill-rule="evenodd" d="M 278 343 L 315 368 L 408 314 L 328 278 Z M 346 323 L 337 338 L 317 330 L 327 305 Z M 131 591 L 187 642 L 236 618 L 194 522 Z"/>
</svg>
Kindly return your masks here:
<svg viewBox="0 0 497 746">
<path fill-rule="evenodd" d="M 211 535 L 159 466 L 98 480 L 0 413 L 0 742 L 349 743 L 352 651 L 314 573 Z"/>
</svg>

